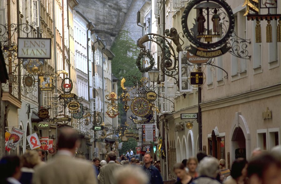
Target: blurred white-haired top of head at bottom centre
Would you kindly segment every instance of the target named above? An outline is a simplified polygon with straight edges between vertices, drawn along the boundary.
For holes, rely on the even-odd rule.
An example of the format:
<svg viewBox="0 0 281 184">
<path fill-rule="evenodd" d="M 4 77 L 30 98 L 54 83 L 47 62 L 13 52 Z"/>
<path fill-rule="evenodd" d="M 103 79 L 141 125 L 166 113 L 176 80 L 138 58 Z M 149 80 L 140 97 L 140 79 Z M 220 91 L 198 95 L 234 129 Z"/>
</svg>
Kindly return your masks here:
<svg viewBox="0 0 281 184">
<path fill-rule="evenodd" d="M 116 184 L 147 184 L 149 182 L 141 167 L 122 167 L 114 173 Z"/>
</svg>

